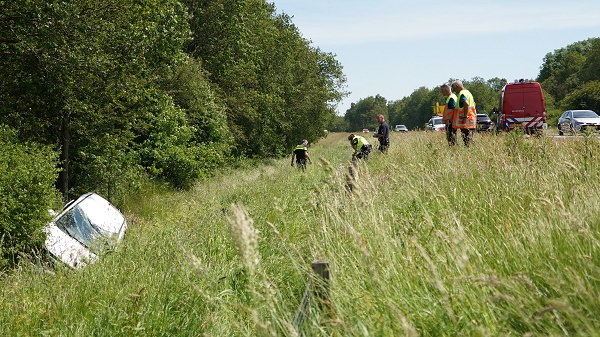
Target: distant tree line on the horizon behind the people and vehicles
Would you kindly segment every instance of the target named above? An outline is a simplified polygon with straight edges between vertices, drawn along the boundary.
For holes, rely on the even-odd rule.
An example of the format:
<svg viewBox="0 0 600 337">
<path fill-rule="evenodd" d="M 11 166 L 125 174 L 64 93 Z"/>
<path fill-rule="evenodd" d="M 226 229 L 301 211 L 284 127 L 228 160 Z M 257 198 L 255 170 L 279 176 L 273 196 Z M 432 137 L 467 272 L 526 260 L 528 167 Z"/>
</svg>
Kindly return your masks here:
<svg viewBox="0 0 600 337">
<path fill-rule="evenodd" d="M 455 79 L 448 79 L 452 82 Z M 547 120 L 556 125 L 564 110 L 590 109 L 600 113 L 600 38 L 578 41 L 549 52 L 544 57 L 536 79 L 544 90 Z M 499 108 L 499 96 L 507 80 L 462 79 L 477 102 L 477 110 L 486 114 Z M 420 87 L 407 97 L 388 101 L 381 95 L 369 96 L 352 103 L 344 116 L 337 116 L 330 129 L 357 131 L 376 127 L 375 116 L 383 114 L 390 125 L 404 124 L 409 129 L 423 129 L 436 103 L 445 98 L 438 87 Z"/>
</svg>

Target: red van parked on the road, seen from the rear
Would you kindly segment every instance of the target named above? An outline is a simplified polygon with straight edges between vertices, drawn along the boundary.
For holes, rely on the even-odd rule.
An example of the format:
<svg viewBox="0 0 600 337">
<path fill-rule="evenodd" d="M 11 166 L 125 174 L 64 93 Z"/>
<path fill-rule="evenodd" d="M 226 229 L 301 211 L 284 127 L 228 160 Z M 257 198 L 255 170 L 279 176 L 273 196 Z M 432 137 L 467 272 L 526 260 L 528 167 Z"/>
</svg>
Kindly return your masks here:
<svg viewBox="0 0 600 337">
<path fill-rule="evenodd" d="M 526 133 L 545 131 L 546 104 L 538 82 L 518 80 L 508 83 L 500 94 L 498 130 L 522 128 Z"/>
</svg>

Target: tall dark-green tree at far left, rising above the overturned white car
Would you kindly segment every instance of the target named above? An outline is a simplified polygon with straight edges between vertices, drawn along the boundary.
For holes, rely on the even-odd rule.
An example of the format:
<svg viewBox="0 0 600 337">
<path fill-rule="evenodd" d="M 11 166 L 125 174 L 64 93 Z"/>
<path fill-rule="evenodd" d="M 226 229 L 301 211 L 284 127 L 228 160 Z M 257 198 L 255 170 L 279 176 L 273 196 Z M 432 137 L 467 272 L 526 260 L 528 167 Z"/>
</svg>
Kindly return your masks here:
<svg viewBox="0 0 600 337">
<path fill-rule="evenodd" d="M 157 70 L 183 55 L 184 7 L 177 0 L 17 1 L 0 15 L 7 37 L 0 50 L 8 55 L 0 67 L 0 118 L 23 137 L 61 149 L 65 198 L 71 183 L 81 183 L 77 174 L 93 167 L 97 177 L 126 183 L 118 179 L 127 179 L 122 170 L 135 161 L 136 120 Z M 114 146 L 100 146 L 107 138 Z M 75 157 L 120 163 L 83 167 Z"/>
</svg>

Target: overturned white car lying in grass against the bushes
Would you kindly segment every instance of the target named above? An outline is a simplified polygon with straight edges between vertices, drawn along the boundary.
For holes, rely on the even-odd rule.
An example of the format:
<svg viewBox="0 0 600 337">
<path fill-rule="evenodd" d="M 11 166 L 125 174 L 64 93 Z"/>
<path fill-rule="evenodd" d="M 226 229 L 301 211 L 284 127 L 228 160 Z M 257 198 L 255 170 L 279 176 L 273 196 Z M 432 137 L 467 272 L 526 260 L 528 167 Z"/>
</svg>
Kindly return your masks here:
<svg viewBox="0 0 600 337">
<path fill-rule="evenodd" d="M 123 239 L 127 221 L 110 202 L 95 193 L 71 201 L 44 228 L 50 255 L 72 268 L 93 263 Z"/>
</svg>

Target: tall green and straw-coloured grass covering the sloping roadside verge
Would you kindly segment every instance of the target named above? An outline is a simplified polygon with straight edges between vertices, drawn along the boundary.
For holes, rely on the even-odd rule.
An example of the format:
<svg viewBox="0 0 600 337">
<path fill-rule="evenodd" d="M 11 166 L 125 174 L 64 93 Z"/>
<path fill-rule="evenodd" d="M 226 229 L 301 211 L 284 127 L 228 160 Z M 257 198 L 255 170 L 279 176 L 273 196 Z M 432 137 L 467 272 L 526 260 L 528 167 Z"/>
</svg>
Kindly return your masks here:
<svg viewBox="0 0 600 337">
<path fill-rule="evenodd" d="M 353 178 L 331 134 L 304 173 L 286 158 L 147 189 L 119 251 L 6 275 L 0 334 L 600 335 L 597 138 L 393 136 Z M 332 306 L 295 326 L 314 260 Z"/>
</svg>

